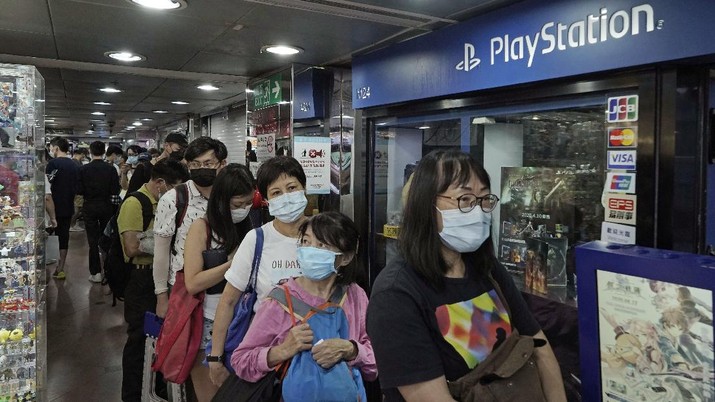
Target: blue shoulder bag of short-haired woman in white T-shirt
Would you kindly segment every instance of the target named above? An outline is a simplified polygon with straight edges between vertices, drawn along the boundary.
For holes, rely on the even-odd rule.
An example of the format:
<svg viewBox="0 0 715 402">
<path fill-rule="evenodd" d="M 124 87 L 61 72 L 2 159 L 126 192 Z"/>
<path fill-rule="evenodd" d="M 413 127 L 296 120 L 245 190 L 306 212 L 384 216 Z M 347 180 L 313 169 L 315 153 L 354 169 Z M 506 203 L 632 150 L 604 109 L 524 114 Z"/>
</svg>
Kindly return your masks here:
<svg viewBox="0 0 715 402">
<path fill-rule="evenodd" d="M 246 290 L 241 294 L 241 297 L 236 302 L 236 307 L 233 310 L 233 319 L 226 332 L 226 340 L 223 344 L 224 366 L 233 374 L 235 371 L 231 367 L 231 359 L 229 358 L 233 351 L 236 350 L 238 344 L 241 343 L 243 337 L 246 336 L 248 326 L 253 319 L 253 306 L 258 298 L 256 293 L 256 281 L 258 280 L 258 266 L 261 265 L 261 253 L 263 253 L 263 228 L 256 228 L 256 247 L 253 250 L 253 264 L 251 266 L 251 276 L 248 280 Z M 206 355 L 211 355 L 212 341 L 206 345 Z M 208 365 L 206 359 L 203 362 Z"/>
</svg>

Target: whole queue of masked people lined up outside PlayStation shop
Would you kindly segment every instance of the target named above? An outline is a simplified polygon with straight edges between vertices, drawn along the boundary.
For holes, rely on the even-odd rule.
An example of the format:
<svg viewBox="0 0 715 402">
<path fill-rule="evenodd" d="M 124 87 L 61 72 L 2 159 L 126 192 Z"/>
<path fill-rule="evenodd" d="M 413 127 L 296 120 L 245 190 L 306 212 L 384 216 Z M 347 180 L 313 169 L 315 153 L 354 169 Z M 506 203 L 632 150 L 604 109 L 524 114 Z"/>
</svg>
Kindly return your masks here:
<svg viewBox="0 0 715 402">
<path fill-rule="evenodd" d="M 93 162 L 79 173 L 74 164 L 53 164 L 79 174 L 85 208 L 99 191 L 88 182 L 106 174 L 91 170 L 99 166 L 103 146 L 90 150 Z M 61 141 L 51 151 L 67 152 Z M 551 347 L 494 255 L 491 211 L 499 199 L 470 155 L 435 151 L 417 165 L 404 201 L 400 256 L 378 275 L 369 299 L 356 284 L 367 274 L 356 258 L 365 239 L 339 212 L 306 216 L 306 176 L 298 161 L 274 157 L 254 178 L 246 166 L 227 163 L 227 156 L 216 139 L 186 144 L 167 138 L 160 155 L 140 164 L 128 180 L 130 189 L 147 181 L 138 187 L 143 196 L 129 193 L 117 220 L 125 261 L 132 264 L 124 299 L 123 401 L 142 398 L 143 316 L 167 315 L 178 272 L 188 293 L 203 300 L 203 335 L 190 373 L 197 401 L 211 401 L 232 380 L 256 383 L 291 366 L 286 383 L 290 376 L 347 367 L 358 393 L 339 400 L 364 399 L 363 381 L 377 379 L 385 401 L 452 401 L 457 396 L 449 382 L 474 370 L 513 331 L 543 341 L 534 355 L 540 386 L 547 400 L 565 400 Z M 118 194 L 121 175 L 114 174 L 102 191 Z M 248 215 L 256 191 L 273 219 L 253 227 Z M 149 227 L 142 225 L 142 197 L 151 204 Z M 58 228 L 69 228 L 70 199 L 53 193 L 53 200 Z M 89 227 L 87 232 L 89 237 Z M 93 275 L 96 261 L 90 256 Z M 236 304 L 247 291 L 257 295 L 255 315 L 238 347 L 225 355 Z M 309 314 L 298 314 L 300 306 L 308 306 Z M 331 324 L 320 323 L 324 319 Z M 304 364 L 317 370 L 296 368 Z M 284 389 L 286 401 L 295 400 L 286 395 L 295 389 Z"/>
</svg>

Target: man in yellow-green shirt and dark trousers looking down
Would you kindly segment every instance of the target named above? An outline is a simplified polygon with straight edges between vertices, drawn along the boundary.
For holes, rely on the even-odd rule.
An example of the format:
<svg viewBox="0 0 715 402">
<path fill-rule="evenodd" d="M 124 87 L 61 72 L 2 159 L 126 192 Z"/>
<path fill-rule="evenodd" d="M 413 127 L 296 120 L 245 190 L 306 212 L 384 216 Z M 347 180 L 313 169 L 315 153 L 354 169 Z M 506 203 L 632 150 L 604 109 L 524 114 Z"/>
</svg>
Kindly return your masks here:
<svg viewBox="0 0 715 402">
<path fill-rule="evenodd" d="M 147 243 L 146 233 L 152 231 L 153 220 L 144 227 L 142 202 L 148 200 L 156 211 L 162 194 L 187 177 L 186 168 L 177 161 L 166 160 L 156 164 L 152 178 L 136 193 L 127 195 L 117 217 L 117 227 L 122 241 L 124 260 L 131 262 L 129 282 L 124 290 L 124 320 L 127 322 L 127 342 L 122 355 L 122 401 L 140 402 L 144 367 L 144 313 L 156 306 L 152 263 L 154 249 Z"/>
</svg>

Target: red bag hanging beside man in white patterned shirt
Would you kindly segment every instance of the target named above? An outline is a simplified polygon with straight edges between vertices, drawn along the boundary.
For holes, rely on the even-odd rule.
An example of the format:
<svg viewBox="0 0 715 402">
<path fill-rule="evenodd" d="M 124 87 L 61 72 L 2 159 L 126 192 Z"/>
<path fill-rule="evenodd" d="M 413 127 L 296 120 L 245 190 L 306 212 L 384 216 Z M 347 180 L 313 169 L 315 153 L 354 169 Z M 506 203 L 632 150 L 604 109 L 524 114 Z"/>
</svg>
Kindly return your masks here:
<svg viewBox="0 0 715 402">
<path fill-rule="evenodd" d="M 183 384 L 191 374 L 204 330 L 203 300 L 204 292 L 191 295 L 184 272 L 177 272 L 151 366 L 167 381 Z"/>
</svg>

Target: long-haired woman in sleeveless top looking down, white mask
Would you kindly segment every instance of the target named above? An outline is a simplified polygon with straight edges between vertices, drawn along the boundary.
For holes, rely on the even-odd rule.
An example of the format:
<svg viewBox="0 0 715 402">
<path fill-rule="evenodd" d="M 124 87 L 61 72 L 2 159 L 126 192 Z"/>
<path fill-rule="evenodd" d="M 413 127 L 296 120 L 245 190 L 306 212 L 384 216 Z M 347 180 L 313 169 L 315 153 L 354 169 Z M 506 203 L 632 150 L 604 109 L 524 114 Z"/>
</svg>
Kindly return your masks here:
<svg viewBox="0 0 715 402">
<path fill-rule="evenodd" d="M 255 182 L 250 170 L 238 163 L 226 165 L 213 183 L 206 216 L 191 224 L 184 247 L 186 289 L 205 292 L 204 335 L 191 381 L 199 401 L 210 401 L 218 390 L 211 383 L 208 367 L 202 364 L 226 280 L 236 250 L 252 229 L 248 213 L 253 204 Z"/>
</svg>

